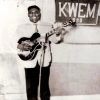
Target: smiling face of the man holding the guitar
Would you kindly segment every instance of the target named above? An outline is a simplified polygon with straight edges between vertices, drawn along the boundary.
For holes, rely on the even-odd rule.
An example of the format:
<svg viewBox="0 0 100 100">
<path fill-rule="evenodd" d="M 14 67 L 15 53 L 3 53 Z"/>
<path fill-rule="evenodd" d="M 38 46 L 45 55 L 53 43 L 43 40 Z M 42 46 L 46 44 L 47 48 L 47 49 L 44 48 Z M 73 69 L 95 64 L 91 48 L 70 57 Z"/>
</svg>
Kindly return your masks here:
<svg viewBox="0 0 100 100">
<path fill-rule="evenodd" d="M 29 17 L 31 22 L 37 23 L 41 18 L 41 13 L 38 9 L 32 8 L 28 12 L 28 17 Z"/>
</svg>

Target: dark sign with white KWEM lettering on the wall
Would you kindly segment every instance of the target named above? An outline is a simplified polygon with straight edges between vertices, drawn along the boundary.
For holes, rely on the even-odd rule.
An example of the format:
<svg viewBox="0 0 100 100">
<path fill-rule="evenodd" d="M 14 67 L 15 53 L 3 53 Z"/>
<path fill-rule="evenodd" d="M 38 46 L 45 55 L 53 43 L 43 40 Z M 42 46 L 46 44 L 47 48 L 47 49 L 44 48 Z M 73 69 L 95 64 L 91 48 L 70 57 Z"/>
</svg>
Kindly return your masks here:
<svg viewBox="0 0 100 100">
<path fill-rule="evenodd" d="M 56 21 L 72 18 L 79 25 L 100 25 L 99 0 L 56 0 Z"/>
</svg>

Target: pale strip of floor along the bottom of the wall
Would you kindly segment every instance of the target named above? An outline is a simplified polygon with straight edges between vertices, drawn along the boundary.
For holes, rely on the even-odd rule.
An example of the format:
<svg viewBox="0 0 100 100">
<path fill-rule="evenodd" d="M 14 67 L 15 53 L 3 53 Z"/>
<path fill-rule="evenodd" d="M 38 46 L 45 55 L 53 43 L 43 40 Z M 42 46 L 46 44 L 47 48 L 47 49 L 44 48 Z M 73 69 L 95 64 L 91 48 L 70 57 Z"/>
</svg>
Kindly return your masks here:
<svg viewBox="0 0 100 100">
<path fill-rule="evenodd" d="M 23 94 L 3 94 L 0 100 L 27 100 Z M 52 96 L 51 100 L 100 100 L 100 95 Z"/>
</svg>

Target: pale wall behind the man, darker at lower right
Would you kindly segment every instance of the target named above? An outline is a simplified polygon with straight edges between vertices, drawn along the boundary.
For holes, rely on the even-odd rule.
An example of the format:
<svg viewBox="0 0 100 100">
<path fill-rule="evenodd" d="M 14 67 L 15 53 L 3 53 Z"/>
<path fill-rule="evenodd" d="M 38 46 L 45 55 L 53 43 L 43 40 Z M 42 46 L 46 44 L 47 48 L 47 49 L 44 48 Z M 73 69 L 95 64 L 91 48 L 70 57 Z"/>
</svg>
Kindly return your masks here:
<svg viewBox="0 0 100 100">
<path fill-rule="evenodd" d="M 43 21 L 55 21 L 53 0 L 25 0 L 19 5 L 12 0 L 0 3 L 0 93 L 25 93 L 24 71 L 17 63 L 14 37 L 17 26 L 28 21 L 26 8 L 33 3 L 41 7 Z M 52 44 L 52 95 L 100 93 L 99 33 L 97 26 L 68 27 L 64 43 Z"/>
</svg>

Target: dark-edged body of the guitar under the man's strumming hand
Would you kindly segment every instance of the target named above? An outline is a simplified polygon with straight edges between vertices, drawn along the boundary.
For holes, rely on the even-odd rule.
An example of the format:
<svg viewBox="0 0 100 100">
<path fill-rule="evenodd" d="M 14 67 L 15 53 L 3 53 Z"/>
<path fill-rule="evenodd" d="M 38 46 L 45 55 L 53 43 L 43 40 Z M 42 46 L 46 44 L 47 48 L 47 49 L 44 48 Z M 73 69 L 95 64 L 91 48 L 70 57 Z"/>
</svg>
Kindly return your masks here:
<svg viewBox="0 0 100 100">
<path fill-rule="evenodd" d="M 18 56 L 21 60 L 33 60 L 38 51 L 41 49 L 41 44 L 36 41 L 37 38 L 40 37 L 39 33 L 34 33 L 31 38 L 22 37 L 18 40 L 18 43 L 21 44 L 22 42 L 29 41 L 31 43 L 31 49 L 30 50 L 20 50 L 18 49 Z"/>
</svg>

